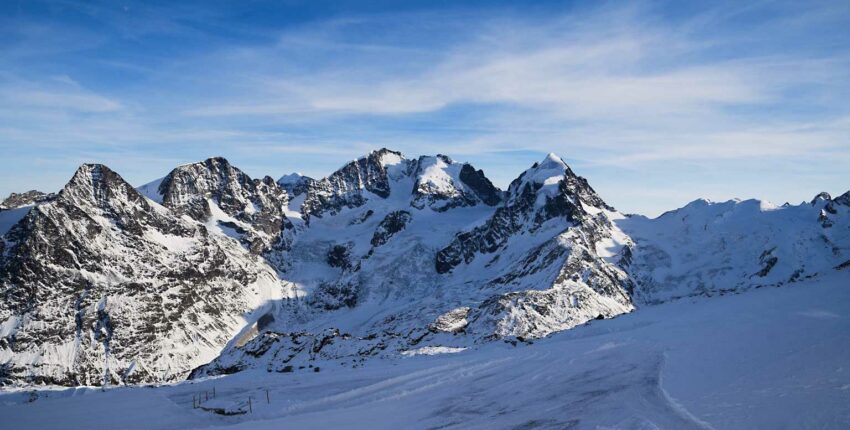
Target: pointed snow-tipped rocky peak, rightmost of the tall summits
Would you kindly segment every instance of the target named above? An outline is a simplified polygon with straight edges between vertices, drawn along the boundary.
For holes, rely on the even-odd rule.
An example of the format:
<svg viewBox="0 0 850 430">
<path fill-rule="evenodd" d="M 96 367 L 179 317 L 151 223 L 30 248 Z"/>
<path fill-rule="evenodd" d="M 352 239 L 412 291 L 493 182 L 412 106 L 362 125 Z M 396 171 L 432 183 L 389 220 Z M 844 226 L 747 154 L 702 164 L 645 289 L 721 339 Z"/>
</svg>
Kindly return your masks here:
<svg viewBox="0 0 850 430">
<path fill-rule="evenodd" d="M 622 236 L 612 223 L 618 218 L 622 216 L 583 178 L 550 154 L 511 184 L 504 206 L 487 222 L 459 233 L 439 251 L 435 269 L 450 273 L 479 259 L 489 260 L 488 267 L 527 236 L 551 237 L 528 248 L 509 270 L 488 283 L 496 290 L 510 290 L 506 287 L 540 277 L 541 285 L 485 300 L 470 312 L 466 328 L 480 336 L 545 336 L 633 309 L 628 294 L 634 288 L 631 280 L 614 264 L 616 259 L 597 252 L 599 243 Z M 620 252 L 625 252 L 628 240 L 620 240 Z"/>
</svg>

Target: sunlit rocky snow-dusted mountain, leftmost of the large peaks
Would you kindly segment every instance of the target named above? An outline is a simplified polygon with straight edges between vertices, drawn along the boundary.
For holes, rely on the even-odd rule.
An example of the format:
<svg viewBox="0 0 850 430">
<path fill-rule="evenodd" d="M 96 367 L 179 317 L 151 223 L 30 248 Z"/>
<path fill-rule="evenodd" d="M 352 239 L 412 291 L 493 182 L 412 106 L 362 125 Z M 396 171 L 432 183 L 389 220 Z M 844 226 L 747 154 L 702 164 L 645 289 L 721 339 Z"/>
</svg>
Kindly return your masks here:
<svg viewBox="0 0 850 430">
<path fill-rule="evenodd" d="M 0 383 L 179 380 L 282 295 L 240 246 L 83 165 L 5 236 Z M 262 291 L 266 290 L 266 291 Z"/>
</svg>

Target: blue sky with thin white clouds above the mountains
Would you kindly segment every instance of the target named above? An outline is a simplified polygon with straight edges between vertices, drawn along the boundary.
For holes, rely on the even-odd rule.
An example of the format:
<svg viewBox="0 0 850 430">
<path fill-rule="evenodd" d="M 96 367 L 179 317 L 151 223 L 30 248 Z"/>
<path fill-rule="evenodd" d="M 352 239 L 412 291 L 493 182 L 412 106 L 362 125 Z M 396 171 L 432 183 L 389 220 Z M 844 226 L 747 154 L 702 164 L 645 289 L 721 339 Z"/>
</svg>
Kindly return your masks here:
<svg viewBox="0 0 850 430">
<path fill-rule="evenodd" d="M 625 212 L 850 189 L 850 2 L 0 2 L 0 194 L 83 162 L 322 177 L 371 149 Z"/>
</svg>

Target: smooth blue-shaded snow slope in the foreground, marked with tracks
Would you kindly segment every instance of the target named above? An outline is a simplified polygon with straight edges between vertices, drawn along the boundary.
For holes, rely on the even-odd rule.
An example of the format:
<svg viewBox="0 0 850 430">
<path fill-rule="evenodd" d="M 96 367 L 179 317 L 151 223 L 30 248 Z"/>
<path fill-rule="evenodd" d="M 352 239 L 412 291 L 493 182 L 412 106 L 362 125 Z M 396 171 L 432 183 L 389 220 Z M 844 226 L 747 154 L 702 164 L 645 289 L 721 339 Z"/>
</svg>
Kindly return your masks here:
<svg viewBox="0 0 850 430">
<path fill-rule="evenodd" d="M 651 306 L 539 339 L 319 372 L 12 390 L 15 429 L 846 429 L 850 283 Z M 221 416 L 193 409 L 246 411 Z M 268 393 L 268 394 L 267 394 Z M 268 403 L 267 403 L 268 395 Z M 247 413 L 250 399 L 252 412 Z"/>
</svg>

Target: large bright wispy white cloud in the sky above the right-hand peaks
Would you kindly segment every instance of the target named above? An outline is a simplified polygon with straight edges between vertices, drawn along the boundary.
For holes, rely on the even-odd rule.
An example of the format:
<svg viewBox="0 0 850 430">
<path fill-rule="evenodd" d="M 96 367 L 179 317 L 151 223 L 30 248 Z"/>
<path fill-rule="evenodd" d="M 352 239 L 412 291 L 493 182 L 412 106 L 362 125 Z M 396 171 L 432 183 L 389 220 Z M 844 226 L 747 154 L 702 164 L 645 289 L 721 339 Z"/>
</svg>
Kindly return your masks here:
<svg viewBox="0 0 850 430">
<path fill-rule="evenodd" d="M 715 59 L 707 52 L 739 41 L 690 34 L 697 21 L 704 25 L 694 18 L 659 26 L 640 9 L 605 9 L 545 24 L 494 18 L 468 29 L 466 41 L 439 54 L 384 52 L 411 65 L 391 73 L 385 64 L 392 60 L 369 61 L 372 50 L 366 58 L 351 54 L 342 62 L 289 73 L 280 59 L 291 47 L 275 45 L 254 50 L 245 56 L 253 62 L 235 66 L 271 71 L 252 74 L 256 91 L 214 98 L 184 113 L 260 123 L 322 122 L 345 116 L 398 119 L 471 105 L 483 113 L 472 115 L 469 125 L 490 133 L 543 129 L 547 132 L 534 137 L 545 145 L 581 146 L 579 140 L 619 152 L 600 162 L 787 156 L 844 143 L 837 139 L 844 130 L 834 122 L 847 112 L 838 107 L 841 95 L 834 91 L 836 86 L 847 91 L 846 53 Z M 344 34 L 311 30 L 310 46 L 351 48 L 352 42 L 335 39 L 339 33 Z M 795 115 L 789 104 L 815 109 L 820 118 Z M 557 142 L 552 136 L 580 139 Z"/>
</svg>

